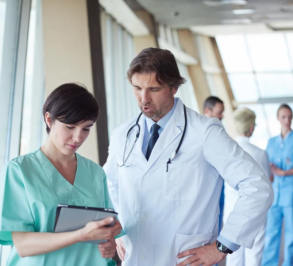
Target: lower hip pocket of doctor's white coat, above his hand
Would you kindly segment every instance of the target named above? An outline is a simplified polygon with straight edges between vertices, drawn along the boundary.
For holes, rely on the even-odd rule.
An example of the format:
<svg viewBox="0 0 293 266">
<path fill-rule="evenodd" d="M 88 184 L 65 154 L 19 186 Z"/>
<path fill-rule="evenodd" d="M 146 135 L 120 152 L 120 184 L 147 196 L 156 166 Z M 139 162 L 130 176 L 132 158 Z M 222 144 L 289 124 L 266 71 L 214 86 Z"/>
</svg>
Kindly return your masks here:
<svg viewBox="0 0 293 266">
<path fill-rule="evenodd" d="M 182 259 L 178 259 L 177 255 L 179 253 L 186 251 L 188 249 L 209 245 L 211 236 L 212 232 L 196 235 L 184 235 L 176 233 L 174 245 L 174 256 L 176 258 L 176 264 L 183 262 L 189 257 L 187 256 Z"/>
</svg>

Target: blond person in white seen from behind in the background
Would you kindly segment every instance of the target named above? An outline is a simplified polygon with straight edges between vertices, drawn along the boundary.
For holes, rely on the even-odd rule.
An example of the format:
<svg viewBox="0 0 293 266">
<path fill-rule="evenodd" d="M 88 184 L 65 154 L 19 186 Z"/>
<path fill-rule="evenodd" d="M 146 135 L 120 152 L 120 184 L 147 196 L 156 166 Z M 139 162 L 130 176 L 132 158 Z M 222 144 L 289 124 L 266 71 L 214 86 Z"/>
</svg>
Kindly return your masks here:
<svg viewBox="0 0 293 266">
<path fill-rule="evenodd" d="M 269 178 L 271 171 L 267 153 L 249 142 L 255 126 L 255 114 L 248 108 L 238 109 L 234 112 L 234 122 L 238 133 L 235 140 L 260 165 Z M 224 223 L 228 220 L 238 196 L 237 190 L 225 184 Z M 252 249 L 240 247 L 237 252 L 227 257 L 226 266 L 261 266 L 264 238 L 265 223 L 259 231 Z"/>
</svg>

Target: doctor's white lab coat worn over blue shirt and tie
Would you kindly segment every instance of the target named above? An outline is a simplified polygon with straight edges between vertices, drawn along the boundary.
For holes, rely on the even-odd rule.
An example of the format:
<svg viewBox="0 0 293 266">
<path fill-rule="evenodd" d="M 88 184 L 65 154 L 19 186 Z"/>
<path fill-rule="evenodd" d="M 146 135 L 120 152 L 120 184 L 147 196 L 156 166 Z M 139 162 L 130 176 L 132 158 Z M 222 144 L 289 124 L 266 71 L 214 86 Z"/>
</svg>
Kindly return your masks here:
<svg viewBox="0 0 293 266">
<path fill-rule="evenodd" d="M 149 160 L 142 152 L 145 117 L 126 165 L 126 133 L 136 118 L 113 132 L 104 166 L 109 193 L 126 236 L 124 266 L 176 266 L 177 254 L 208 245 L 218 236 L 222 178 L 239 189 L 241 197 L 221 231 L 231 242 L 252 247 L 273 200 L 268 178 L 251 156 L 225 132 L 216 118 L 187 108 L 187 131 L 177 157 L 166 163 L 177 148 L 184 129 L 183 103 L 161 133 Z M 129 138 L 127 152 L 135 134 Z M 257 193 L 256 193 L 257 192 Z"/>
</svg>

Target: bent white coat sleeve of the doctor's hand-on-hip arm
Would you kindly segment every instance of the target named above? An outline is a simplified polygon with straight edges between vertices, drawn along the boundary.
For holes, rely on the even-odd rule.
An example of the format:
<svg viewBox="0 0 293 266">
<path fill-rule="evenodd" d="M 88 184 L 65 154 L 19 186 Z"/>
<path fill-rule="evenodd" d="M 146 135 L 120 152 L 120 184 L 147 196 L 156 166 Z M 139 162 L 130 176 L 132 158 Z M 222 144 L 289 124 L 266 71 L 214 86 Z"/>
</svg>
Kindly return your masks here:
<svg viewBox="0 0 293 266">
<path fill-rule="evenodd" d="M 252 248 L 272 205 L 273 191 L 261 167 L 226 133 L 218 119 L 209 119 L 203 133 L 205 159 L 235 190 L 239 198 L 220 235 Z"/>
</svg>

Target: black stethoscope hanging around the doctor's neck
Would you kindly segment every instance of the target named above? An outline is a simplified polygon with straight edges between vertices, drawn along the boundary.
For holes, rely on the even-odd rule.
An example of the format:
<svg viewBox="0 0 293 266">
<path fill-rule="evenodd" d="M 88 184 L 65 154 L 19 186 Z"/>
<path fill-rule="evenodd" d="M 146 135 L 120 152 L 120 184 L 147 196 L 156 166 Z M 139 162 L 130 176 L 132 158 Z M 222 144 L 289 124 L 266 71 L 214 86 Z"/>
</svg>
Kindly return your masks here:
<svg viewBox="0 0 293 266">
<path fill-rule="evenodd" d="M 171 161 L 173 161 L 174 158 L 176 158 L 177 156 L 177 153 L 179 152 L 179 149 L 181 147 L 181 144 L 182 144 L 182 141 L 184 139 L 184 136 L 185 136 L 185 133 L 186 133 L 186 128 L 187 128 L 187 114 L 186 114 L 186 106 L 183 105 L 183 109 L 184 109 L 184 119 L 185 119 L 185 123 L 184 123 L 184 130 L 183 130 L 183 134 L 181 136 L 181 139 L 180 139 L 180 142 L 179 142 L 179 145 L 177 147 L 176 150 L 174 150 L 172 153 L 171 153 L 171 156 L 169 158 L 169 160 L 167 161 L 167 171 L 168 171 L 168 165 L 171 163 Z M 137 139 L 139 137 L 139 134 L 140 134 L 140 125 L 138 124 L 139 122 L 139 119 L 141 118 L 143 113 L 140 113 L 139 116 L 137 117 L 136 119 L 136 122 L 135 124 L 128 130 L 127 134 L 126 134 L 126 142 L 125 142 L 125 147 L 124 147 L 124 152 L 123 152 L 123 164 L 122 165 L 118 165 L 118 167 L 129 167 L 129 165 L 126 165 L 126 161 L 128 160 L 134 146 L 135 146 L 135 143 L 137 142 Z M 136 130 L 136 136 L 135 136 L 135 140 L 134 140 L 134 143 L 131 147 L 131 150 L 130 152 L 128 153 L 127 157 L 125 158 L 125 153 L 126 153 L 126 145 L 127 145 L 127 140 L 128 140 L 128 136 L 129 134 L 133 131 L 133 130 Z"/>
</svg>

